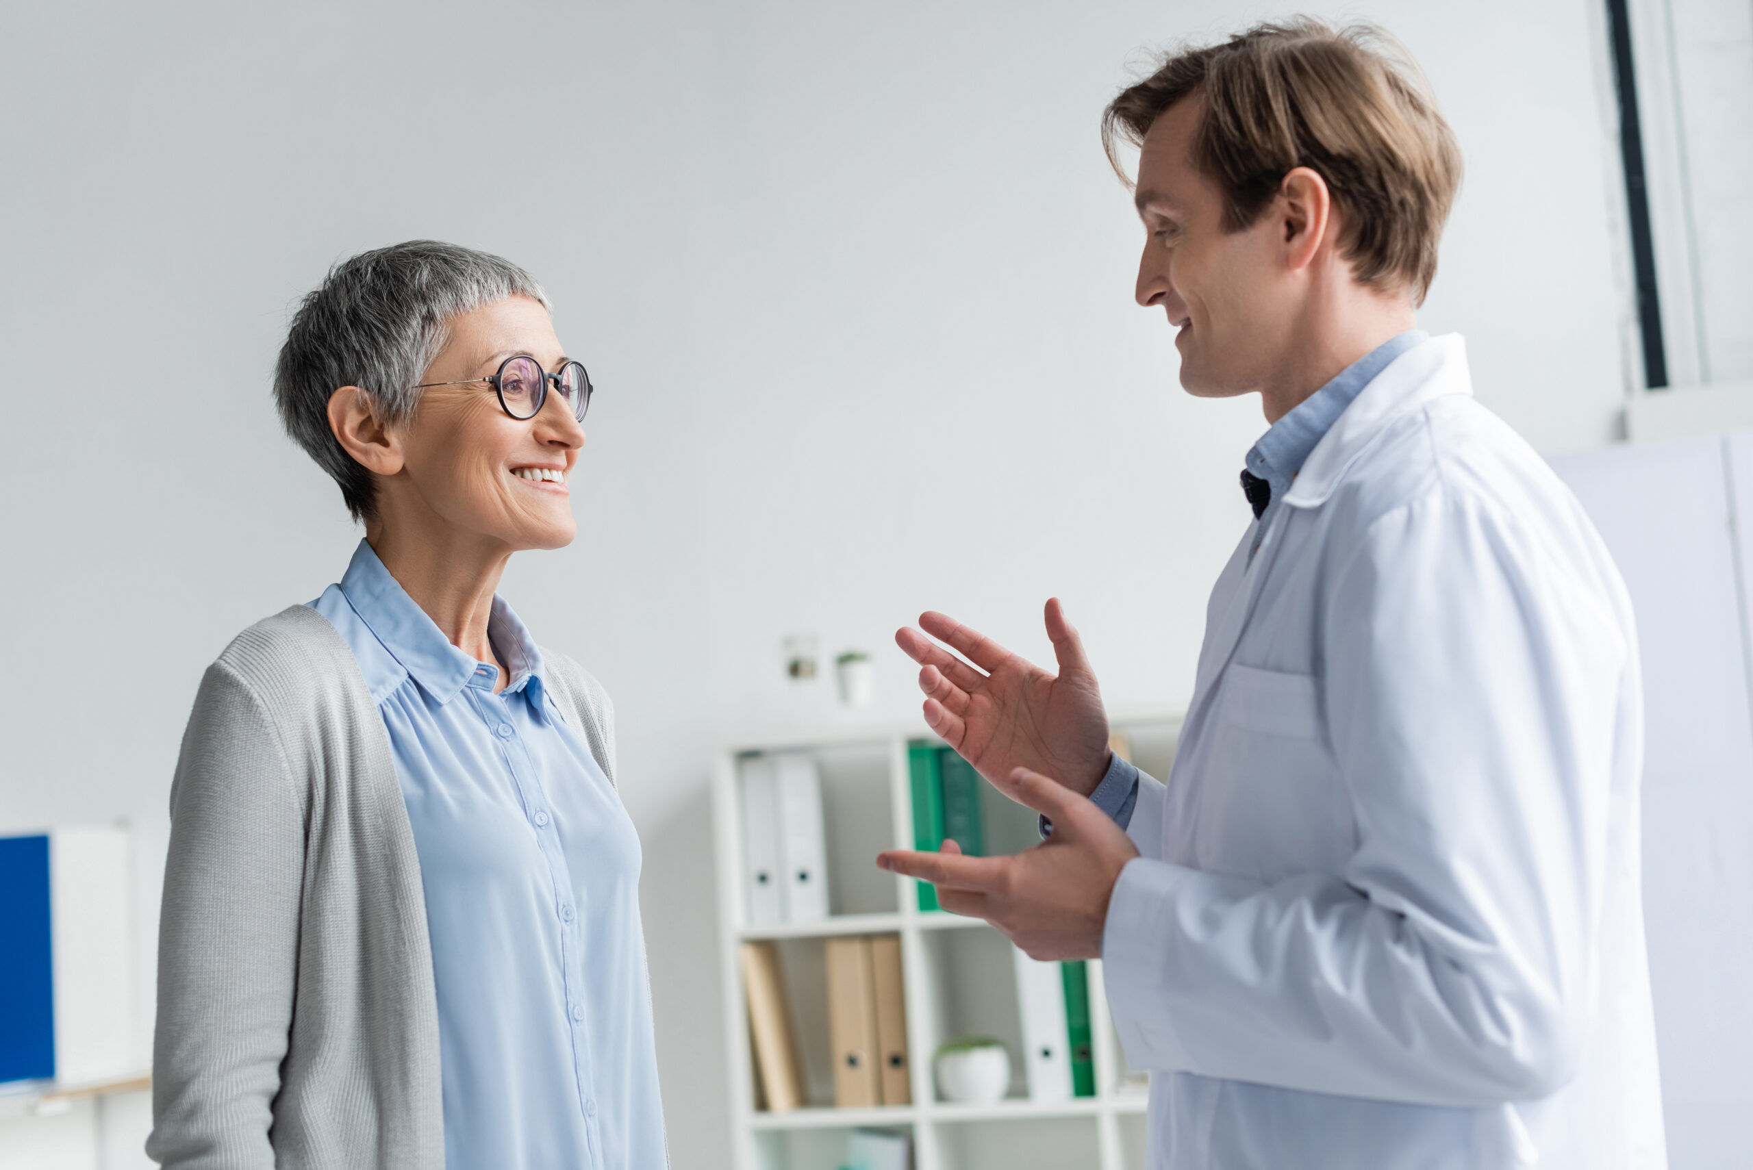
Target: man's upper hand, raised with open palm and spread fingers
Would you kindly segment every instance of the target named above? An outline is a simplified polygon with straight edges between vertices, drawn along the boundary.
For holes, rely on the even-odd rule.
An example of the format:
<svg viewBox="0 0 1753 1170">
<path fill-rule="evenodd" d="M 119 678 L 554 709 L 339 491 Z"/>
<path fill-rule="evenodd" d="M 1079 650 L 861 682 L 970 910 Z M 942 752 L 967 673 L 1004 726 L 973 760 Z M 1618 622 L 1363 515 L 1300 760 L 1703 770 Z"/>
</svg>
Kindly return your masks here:
<svg viewBox="0 0 1753 1170">
<path fill-rule="evenodd" d="M 1110 762 L 1108 715 L 1083 641 L 1057 597 L 1047 603 L 1057 676 L 941 613 L 919 615 L 919 625 L 973 662 L 912 627 L 896 631 L 894 641 L 922 667 L 919 688 L 931 730 L 1006 792 L 1001 779 L 1018 767 L 1083 795 L 1094 792 Z"/>
</svg>

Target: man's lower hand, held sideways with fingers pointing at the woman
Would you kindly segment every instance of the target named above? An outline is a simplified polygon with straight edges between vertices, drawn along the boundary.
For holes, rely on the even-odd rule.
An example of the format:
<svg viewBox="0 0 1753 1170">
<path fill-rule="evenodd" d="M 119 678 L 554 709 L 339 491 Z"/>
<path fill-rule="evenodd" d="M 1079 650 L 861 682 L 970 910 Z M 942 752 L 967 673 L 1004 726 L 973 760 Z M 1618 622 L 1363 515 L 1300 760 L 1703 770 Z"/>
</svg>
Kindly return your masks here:
<svg viewBox="0 0 1753 1170">
<path fill-rule="evenodd" d="M 1040 772 L 1018 767 L 997 786 L 1045 813 L 1054 835 L 1013 856 L 962 856 L 945 841 L 941 853 L 891 849 L 876 863 L 929 881 L 943 909 L 987 920 L 1031 958 L 1101 958 L 1113 883 L 1138 856 L 1132 839 L 1089 799 Z"/>
</svg>

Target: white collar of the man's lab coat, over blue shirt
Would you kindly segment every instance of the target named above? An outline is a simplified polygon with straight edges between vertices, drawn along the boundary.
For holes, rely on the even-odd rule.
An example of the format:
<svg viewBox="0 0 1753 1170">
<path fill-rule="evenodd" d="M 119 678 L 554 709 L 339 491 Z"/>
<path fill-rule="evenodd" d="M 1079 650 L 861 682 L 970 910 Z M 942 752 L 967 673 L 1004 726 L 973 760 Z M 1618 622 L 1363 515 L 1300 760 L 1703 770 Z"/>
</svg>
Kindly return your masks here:
<svg viewBox="0 0 1753 1170">
<path fill-rule="evenodd" d="M 1315 508 L 1327 503 L 1357 457 L 1390 422 L 1448 394 L 1473 396 L 1467 343 L 1458 333 L 1430 338 L 1388 363 L 1309 452 L 1285 504 Z"/>
</svg>

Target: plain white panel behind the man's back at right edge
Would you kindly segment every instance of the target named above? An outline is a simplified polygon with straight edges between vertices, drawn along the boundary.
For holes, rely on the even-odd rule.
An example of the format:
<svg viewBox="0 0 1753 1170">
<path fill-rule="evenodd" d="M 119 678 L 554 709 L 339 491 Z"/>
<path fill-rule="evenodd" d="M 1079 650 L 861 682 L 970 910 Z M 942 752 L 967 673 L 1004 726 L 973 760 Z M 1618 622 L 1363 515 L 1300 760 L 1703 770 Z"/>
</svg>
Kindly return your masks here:
<svg viewBox="0 0 1753 1170">
<path fill-rule="evenodd" d="M 1620 566 L 1644 680 L 1643 867 L 1674 1170 L 1753 1165 L 1753 433 L 1553 461 Z"/>
</svg>

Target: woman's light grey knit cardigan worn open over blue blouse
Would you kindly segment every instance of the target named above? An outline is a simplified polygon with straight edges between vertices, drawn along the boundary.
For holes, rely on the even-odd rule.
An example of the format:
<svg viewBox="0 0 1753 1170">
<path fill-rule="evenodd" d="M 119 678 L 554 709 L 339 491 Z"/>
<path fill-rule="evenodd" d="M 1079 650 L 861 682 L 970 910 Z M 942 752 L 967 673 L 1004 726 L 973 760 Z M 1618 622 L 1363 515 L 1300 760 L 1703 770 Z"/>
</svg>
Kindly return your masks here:
<svg viewBox="0 0 1753 1170">
<path fill-rule="evenodd" d="M 614 783 L 608 695 L 542 650 Z M 153 1137 L 177 1170 L 442 1170 L 426 897 L 352 650 L 293 606 L 202 680 L 170 788 Z"/>
</svg>

